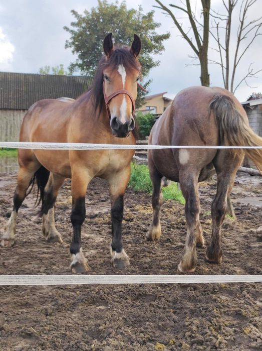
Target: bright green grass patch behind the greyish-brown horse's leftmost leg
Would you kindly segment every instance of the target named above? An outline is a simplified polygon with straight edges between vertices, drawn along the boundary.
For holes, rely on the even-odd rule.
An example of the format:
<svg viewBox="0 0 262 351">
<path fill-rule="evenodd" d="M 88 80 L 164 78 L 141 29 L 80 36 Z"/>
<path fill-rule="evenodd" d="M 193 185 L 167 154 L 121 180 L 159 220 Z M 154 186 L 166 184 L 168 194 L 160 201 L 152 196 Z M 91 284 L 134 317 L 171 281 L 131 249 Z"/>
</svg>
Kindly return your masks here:
<svg viewBox="0 0 262 351">
<path fill-rule="evenodd" d="M 148 167 L 146 165 L 131 165 L 131 176 L 129 186 L 135 191 L 145 191 L 152 193 L 152 183 L 149 177 Z M 178 189 L 177 183 L 172 182 L 171 185 L 162 188 L 164 200 L 176 200 L 182 204 L 185 199 Z"/>
</svg>

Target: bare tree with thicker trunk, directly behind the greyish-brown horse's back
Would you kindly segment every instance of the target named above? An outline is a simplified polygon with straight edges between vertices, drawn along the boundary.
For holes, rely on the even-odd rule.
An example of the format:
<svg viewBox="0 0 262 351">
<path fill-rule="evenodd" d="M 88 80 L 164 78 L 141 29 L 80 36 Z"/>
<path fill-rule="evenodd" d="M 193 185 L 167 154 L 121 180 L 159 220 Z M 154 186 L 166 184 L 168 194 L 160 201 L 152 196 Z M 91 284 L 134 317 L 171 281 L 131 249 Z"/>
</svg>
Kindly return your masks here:
<svg viewBox="0 0 262 351">
<path fill-rule="evenodd" d="M 201 85 L 209 86 L 209 73 L 208 73 L 208 38 L 209 38 L 209 13 L 210 13 L 210 0 L 201 0 L 202 4 L 202 15 L 203 15 L 203 23 L 199 24 L 197 21 L 194 12 L 191 10 L 190 0 L 185 1 L 184 7 L 180 7 L 177 5 L 170 4 L 169 6 L 175 9 L 180 10 L 181 12 L 185 13 L 189 22 L 191 29 L 194 35 L 194 42 L 193 39 L 188 36 L 188 32 L 183 30 L 182 25 L 179 23 L 179 18 L 174 15 L 174 13 L 162 4 L 159 0 L 155 0 L 159 6 L 154 6 L 155 8 L 159 8 L 164 10 L 164 13 L 169 15 L 174 24 L 176 25 L 177 29 L 181 33 L 182 37 L 188 42 L 191 49 L 193 50 L 195 57 L 199 59 L 200 64 L 200 81 Z M 200 26 L 199 26 L 200 25 Z"/>
</svg>

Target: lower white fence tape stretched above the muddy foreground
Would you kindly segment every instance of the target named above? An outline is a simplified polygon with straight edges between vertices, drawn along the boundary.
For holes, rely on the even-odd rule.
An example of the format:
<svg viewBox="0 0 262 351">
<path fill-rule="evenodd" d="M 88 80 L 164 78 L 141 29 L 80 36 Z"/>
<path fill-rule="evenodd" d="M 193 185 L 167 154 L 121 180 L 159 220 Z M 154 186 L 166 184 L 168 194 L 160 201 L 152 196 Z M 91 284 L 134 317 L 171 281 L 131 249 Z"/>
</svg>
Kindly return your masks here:
<svg viewBox="0 0 262 351">
<path fill-rule="evenodd" d="M 262 275 L 3 275 L 1 285 L 261 283 Z"/>
</svg>

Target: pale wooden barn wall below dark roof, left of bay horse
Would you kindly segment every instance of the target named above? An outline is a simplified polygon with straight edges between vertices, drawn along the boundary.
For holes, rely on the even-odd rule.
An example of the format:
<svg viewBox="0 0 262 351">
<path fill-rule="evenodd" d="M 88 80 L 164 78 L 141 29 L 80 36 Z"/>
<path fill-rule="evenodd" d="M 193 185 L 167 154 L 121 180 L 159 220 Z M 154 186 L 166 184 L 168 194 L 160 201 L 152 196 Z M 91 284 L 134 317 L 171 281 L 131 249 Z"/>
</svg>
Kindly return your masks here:
<svg viewBox="0 0 262 351">
<path fill-rule="evenodd" d="M 20 127 L 26 110 L 0 109 L 0 141 L 19 141 Z"/>
</svg>

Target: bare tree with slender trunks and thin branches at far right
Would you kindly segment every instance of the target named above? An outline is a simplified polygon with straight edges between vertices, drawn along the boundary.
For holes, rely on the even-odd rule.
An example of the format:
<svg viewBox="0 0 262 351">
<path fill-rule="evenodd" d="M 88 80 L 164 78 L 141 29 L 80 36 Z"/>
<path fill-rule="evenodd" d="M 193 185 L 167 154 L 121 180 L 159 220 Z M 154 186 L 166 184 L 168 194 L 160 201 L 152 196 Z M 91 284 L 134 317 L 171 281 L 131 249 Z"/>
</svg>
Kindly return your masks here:
<svg viewBox="0 0 262 351">
<path fill-rule="evenodd" d="M 225 9 L 225 14 L 220 14 L 215 10 L 210 10 L 210 16 L 212 17 L 212 25 L 210 26 L 209 33 L 214 38 L 217 48 L 214 50 L 219 53 L 219 60 L 211 60 L 210 63 L 216 63 L 221 67 L 222 78 L 224 87 L 227 90 L 230 90 L 232 93 L 238 88 L 238 86 L 244 81 L 248 85 L 246 78 L 255 77 L 255 75 L 262 71 L 259 69 L 253 71 L 252 63 L 249 64 L 247 73 L 240 79 L 240 81 L 234 86 L 235 73 L 237 66 L 250 47 L 254 40 L 260 36 L 262 33 L 260 29 L 262 27 L 262 16 L 247 22 L 248 10 L 257 2 L 257 0 L 241 0 L 240 9 L 239 9 L 239 25 L 236 33 L 236 45 L 233 51 L 233 63 L 230 65 L 229 57 L 230 55 L 230 39 L 232 36 L 232 18 L 234 15 L 234 10 L 236 8 L 239 0 L 228 0 L 227 4 L 223 0 L 223 7 Z M 214 31 L 214 32 L 213 32 Z M 224 31 L 224 43 L 221 39 L 221 32 Z M 244 43 L 244 47 L 240 49 L 240 44 Z M 242 46 L 243 46 L 242 45 Z M 231 76 L 229 77 L 229 72 L 231 71 Z M 249 86 L 249 85 L 248 85 Z"/>
</svg>

